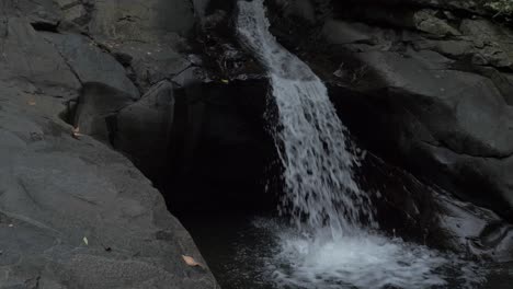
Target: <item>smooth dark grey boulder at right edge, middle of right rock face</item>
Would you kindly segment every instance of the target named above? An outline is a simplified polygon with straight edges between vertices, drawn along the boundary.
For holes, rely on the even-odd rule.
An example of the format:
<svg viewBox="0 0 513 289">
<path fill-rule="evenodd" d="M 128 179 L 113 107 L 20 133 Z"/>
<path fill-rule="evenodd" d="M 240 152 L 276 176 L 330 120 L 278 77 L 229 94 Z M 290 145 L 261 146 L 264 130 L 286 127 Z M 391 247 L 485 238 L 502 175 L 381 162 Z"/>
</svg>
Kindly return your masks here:
<svg viewBox="0 0 513 289">
<path fill-rule="evenodd" d="M 362 53 L 357 57 L 384 84 L 367 89 L 389 90 L 389 97 L 430 134 L 422 141 L 476 157 L 513 153 L 513 108 L 491 80 L 438 65 L 443 58 L 436 54 Z"/>
</svg>

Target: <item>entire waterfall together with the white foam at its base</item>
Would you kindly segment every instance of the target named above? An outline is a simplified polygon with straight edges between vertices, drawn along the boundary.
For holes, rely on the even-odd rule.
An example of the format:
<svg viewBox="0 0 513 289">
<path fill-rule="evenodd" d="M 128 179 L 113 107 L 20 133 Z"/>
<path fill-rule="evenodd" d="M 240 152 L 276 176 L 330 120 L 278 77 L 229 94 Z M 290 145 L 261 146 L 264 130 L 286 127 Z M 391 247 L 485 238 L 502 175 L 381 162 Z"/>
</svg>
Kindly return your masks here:
<svg viewBox="0 0 513 289">
<path fill-rule="evenodd" d="M 354 181 L 357 158 L 346 147 L 346 130 L 327 88 L 269 32 L 263 0 L 239 1 L 238 8 L 239 38 L 269 70 L 284 166 L 281 209 L 296 223 L 259 222 L 278 239 L 280 250 L 267 262 L 274 282 L 284 288 L 443 286 L 435 271 L 446 258 L 364 230 L 374 224 L 371 201 Z"/>
</svg>

